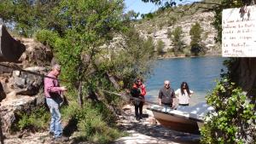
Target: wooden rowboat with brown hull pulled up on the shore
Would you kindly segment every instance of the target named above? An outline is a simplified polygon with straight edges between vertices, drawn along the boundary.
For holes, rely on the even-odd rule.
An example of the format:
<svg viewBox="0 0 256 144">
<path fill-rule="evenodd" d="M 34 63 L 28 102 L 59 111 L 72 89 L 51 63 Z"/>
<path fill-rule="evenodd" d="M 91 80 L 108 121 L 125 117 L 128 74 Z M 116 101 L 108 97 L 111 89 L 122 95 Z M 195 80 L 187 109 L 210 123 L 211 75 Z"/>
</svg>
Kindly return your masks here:
<svg viewBox="0 0 256 144">
<path fill-rule="evenodd" d="M 206 103 L 200 103 L 194 107 L 177 107 L 173 110 L 170 107 L 152 105 L 148 110 L 153 112 L 154 118 L 162 125 L 183 132 L 198 134 L 204 123 L 204 116 L 207 112 L 213 111 Z"/>
</svg>

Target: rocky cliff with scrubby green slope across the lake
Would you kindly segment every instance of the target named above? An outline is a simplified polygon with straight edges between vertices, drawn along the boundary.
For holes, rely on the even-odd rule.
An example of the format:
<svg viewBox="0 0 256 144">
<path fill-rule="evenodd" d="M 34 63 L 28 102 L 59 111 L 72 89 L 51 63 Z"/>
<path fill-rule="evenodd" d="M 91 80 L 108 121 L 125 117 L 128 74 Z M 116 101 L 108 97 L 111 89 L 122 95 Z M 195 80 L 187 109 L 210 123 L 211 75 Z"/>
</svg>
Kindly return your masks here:
<svg viewBox="0 0 256 144">
<path fill-rule="evenodd" d="M 217 31 L 212 26 L 213 17 L 213 12 L 198 12 L 176 18 L 175 13 L 170 13 L 166 10 L 166 12 L 152 19 L 137 21 L 135 27 L 141 36 L 153 37 L 155 44 L 158 40 L 163 41 L 165 43 L 164 51 L 167 51 L 168 49 L 173 49 L 173 43 L 171 38 L 168 37 L 168 32 L 172 32 L 177 26 L 181 26 L 183 30 L 183 43 L 185 46 L 189 46 L 191 41 L 189 31 L 198 22 L 203 30 L 201 43 L 207 49 L 207 54 L 219 55 L 221 54 L 221 49 L 214 40 L 214 37 L 217 36 Z"/>
</svg>

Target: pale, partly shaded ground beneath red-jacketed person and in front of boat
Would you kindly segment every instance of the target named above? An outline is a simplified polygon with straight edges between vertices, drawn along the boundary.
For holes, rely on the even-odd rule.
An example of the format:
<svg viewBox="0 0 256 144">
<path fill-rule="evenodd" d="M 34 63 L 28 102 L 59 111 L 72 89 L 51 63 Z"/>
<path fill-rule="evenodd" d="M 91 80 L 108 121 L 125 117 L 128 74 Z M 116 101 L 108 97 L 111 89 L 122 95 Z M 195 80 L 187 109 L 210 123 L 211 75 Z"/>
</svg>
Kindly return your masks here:
<svg viewBox="0 0 256 144">
<path fill-rule="evenodd" d="M 115 141 L 115 144 L 176 144 L 176 143 L 199 143 L 200 135 L 169 130 L 156 124 L 152 112 L 144 106 L 143 120 L 134 118 L 134 107 L 127 105 L 123 108 L 119 118 L 119 127 L 130 135 Z"/>
</svg>

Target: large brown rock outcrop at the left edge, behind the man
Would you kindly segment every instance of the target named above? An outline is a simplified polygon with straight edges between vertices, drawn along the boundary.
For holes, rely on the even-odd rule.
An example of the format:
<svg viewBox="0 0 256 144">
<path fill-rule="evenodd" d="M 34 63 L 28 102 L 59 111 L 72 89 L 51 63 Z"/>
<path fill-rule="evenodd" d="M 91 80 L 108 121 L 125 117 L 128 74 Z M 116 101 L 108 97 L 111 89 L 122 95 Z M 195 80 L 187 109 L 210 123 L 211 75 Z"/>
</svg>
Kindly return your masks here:
<svg viewBox="0 0 256 144">
<path fill-rule="evenodd" d="M 31 38 L 11 37 L 3 26 L 1 50 L 0 117 L 5 134 L 17 122 L 18 112 L 30 112 L 32 108 L 44 106 L 43 76 L 53 54 L 51 49 Z"/>
</svg>

